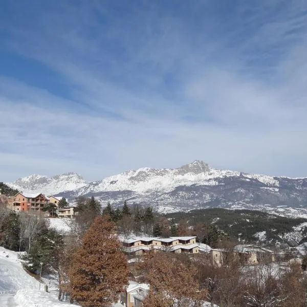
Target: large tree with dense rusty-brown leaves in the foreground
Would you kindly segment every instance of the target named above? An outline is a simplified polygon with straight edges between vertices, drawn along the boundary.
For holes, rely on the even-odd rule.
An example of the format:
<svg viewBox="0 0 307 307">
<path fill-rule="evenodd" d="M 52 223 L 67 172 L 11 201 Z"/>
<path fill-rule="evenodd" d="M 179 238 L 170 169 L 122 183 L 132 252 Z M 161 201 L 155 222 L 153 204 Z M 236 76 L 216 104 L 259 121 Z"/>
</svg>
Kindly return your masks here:
<svg viewBox="0 0 307 307">
<path fill-rule="evenodd" d="M 70 270 L 71 297 L 84 307 L 107 307 L 127 284 L 127 260 L 116 225 L 98 216 L 84 234 Z"/>
</svg>

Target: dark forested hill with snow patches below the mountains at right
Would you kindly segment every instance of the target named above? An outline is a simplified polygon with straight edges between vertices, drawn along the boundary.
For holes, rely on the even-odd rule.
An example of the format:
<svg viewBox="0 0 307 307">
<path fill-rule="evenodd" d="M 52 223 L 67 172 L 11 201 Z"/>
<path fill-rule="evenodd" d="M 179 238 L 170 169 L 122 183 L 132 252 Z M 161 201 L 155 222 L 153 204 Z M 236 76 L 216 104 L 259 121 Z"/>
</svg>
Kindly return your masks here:
<svg viewBox="0 0 307 307">
<path fill-rule="evenodd" d="M 176 222 L 187 220 L 189 225 L 212 224 L 227 237 L 248 243 L 288 243 L 297 245 L 307 236 L 307 219 L 289 218 L 254 210 L 210 208 L 166 214 Z M 305 225 L 306 224 L 306 225 Z"/>
</svg>

